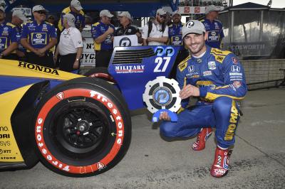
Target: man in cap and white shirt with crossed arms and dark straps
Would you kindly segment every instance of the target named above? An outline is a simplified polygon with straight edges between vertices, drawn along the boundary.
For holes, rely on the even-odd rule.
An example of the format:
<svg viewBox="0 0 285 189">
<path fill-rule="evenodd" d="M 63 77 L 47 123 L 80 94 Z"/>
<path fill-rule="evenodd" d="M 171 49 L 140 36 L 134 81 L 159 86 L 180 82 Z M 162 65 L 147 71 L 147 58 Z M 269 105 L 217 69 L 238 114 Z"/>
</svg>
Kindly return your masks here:
<svg viewBox="0 0 285 189">
<path fill-rule="evenodd" d="M 168 41 L 168 26 L 165 24 L 166 12 L 157 9 L 155 20 L 142 28 L 143 45 L 165 45 Z"/>
</svg>

